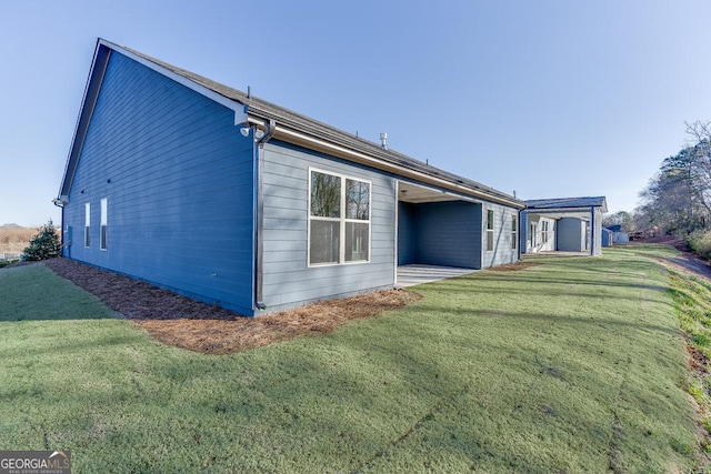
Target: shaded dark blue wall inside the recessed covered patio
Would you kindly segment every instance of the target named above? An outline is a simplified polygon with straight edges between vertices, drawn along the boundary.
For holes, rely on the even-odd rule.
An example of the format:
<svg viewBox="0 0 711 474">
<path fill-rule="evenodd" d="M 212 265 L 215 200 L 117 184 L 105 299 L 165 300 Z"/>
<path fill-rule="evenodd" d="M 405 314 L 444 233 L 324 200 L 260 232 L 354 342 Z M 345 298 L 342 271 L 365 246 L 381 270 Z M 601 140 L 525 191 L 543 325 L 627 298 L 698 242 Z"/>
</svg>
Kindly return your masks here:
<svg viewBox="0 0 711 474">
<path fill-rule="evenodd" d="M 481 204 L 448 201 L 411 209 L 413 263 L 481 269 Z"/>
</svg>

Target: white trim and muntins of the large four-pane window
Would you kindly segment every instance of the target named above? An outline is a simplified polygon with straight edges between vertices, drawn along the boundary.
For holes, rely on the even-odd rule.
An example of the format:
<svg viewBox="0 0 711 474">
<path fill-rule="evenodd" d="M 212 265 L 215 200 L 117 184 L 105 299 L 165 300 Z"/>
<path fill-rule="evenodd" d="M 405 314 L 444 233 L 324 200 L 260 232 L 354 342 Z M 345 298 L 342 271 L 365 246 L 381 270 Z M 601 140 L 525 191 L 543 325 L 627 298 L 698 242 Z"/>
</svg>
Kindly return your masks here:
<svg viewBox="0 0 711 474">
<path fill-rule="evenodd" d="M 341 180 L 341 218 L 316 218 L 319 221 L 331 221 L 331 222 L 340 222 L 339 230 L 339 255 L 338 262 L 324 262 L 324 263 L 311 263 L 311 173 L 312 172 L 330 174 L 332 177 L 340 178 Z M 369 202 L 368 202 L 368 220 L 362 219 L 346 219 L 346 180 L 360 181 L 361 183 L 367 183 L 370 189 Z M 358 265 L 362 263 L 370 263 L 370 259 L 372 255 L 372 210 L 373 210 L 373 183 L 370 180 L 365 180 L 362 178 L 357 178 L 343 173 L 339 173 L 336 171 L 328 171 L 320 168 L 311 168 L 309 167 L 309 189 L 308 189 L 309 199 L 307 202 L 307 268 L 321 268 L 321 266 L 336 266 L 336 265 Z M 368 224 L 368 259 L 367 260 L 356 260 L 351 262 L 346 261 L 346 223 L 361 223 Z"/>
</svg>

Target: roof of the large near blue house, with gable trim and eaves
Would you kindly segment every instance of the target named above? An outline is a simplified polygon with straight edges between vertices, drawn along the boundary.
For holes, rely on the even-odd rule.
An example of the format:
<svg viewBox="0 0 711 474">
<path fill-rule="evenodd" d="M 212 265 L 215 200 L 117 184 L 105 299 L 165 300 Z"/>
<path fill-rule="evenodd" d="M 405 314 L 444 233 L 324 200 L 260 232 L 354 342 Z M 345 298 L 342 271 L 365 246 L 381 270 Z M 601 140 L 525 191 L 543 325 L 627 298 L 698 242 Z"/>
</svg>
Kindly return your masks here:
<svg viewBox="0 0 711 474">
<path fill-rule="evenodd" d="M 248 95 L 237 89 L 103 39 L 99 39 L 97 42 L 91 71 L 84 90 L 84 98 L 74 130 L 74 138 L 59 192 L 60 199 L 66 199 L 69 194 L 89 121 L 91 120 L 91 113 L 98 99 L 101 80 L 113 51 L 127 56 L 218 103 L 234 110 L 236 124 L 244 123 L 267 128 L 272 123 L 276 124 L 272 131 L 273 138 L 277 140 L 367 164 L 403 178 L 411 178 L 434 184 L 475 199 L 493 201 L 517 209 L 524 208 L 523 201 L 510 194 L 431 167 L 403 153 L 383 149 L 380 144 L 343 132 L 323 122 L 276 105 L 266 100 L 254 98 L 253 95 Z"/>
</svg>

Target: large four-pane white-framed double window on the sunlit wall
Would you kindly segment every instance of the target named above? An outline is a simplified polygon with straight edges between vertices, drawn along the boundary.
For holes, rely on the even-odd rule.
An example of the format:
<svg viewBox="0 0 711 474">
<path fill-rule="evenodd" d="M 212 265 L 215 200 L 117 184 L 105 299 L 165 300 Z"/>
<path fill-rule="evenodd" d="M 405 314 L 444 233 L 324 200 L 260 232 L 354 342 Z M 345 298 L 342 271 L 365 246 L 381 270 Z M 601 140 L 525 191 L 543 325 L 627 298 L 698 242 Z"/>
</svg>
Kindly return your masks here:
<svg viewBox="0 0 711 474">
<path fill-rule="evenodd" d="M 310 171 L 309 265 L 370 260 L 370 183 Z"/>
</svg>

